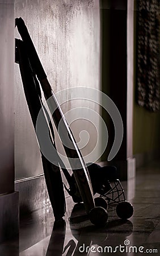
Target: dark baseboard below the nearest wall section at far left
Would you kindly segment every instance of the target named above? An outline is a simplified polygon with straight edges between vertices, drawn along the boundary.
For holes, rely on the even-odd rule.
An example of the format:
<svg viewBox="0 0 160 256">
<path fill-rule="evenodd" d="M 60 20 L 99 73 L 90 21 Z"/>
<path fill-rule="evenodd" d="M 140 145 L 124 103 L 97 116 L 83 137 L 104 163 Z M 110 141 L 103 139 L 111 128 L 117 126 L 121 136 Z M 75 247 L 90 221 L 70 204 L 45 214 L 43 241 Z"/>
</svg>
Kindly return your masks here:
<svg viewBox="0 0 160 256">
<path fill-rule="evenodd" d="M 0 242 L 19 234 L 19 193 L 0 195 Z"/>
</svg>

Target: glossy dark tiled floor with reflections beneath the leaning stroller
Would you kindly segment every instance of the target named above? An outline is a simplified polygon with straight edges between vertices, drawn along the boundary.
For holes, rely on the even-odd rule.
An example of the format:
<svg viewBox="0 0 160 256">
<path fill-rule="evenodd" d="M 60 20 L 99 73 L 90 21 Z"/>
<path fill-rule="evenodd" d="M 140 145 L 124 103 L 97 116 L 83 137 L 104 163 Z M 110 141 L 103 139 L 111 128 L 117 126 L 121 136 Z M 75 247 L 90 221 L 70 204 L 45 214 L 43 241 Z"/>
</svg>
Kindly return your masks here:
<svg viewBox="0 0 160 256">
<path fill-rule="evenodd" d="M 158 163 L 139 168 L 136 180 L 123 182 L 127 200 L 134 206 L 133 217 L 122 221 L 116 216 L 115 208 L 110 207 L 104 228 L 91 225 L 84 214 L 70 217 L 74 207 L 70 198 L 64 221 L 54 223 L 50 207 L 34 212 L 20 224 L 19 241 L 3 243 L 0 255 L 141 255 L 142 251 L 159 255 L 159 181 Z M 82 205 L 74 207 L 73 214 L 82 212 Z"/>
</svg>

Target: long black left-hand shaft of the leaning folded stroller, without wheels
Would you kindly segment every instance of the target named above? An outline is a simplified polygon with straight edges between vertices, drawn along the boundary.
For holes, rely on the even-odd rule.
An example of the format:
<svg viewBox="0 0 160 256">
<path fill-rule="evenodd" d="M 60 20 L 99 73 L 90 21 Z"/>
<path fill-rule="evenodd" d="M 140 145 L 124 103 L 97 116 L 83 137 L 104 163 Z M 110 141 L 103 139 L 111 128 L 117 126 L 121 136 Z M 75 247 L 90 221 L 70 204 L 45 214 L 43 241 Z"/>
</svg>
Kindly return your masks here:
<svg viewBox="0 0 160 256">
<path fill-rule="evenodd" d="M 26 96 L 28 108 L 30 110 L 33 126 L 36 129 L 36 119 L 41 109 L 41 101 L 39 94 L 37 93 L 37 90 L 40 92 L 39 82 L 37 81 L 36 74 L 33 72 L 31 67 L 24 42 L 22 42 L 22 40 L 15 39 L 15 47 L 16 62 L 19 63 L 24 93 Z M 55 219 L 59 219 L 64 216 L 66 210 L 65 195 L 60 169 L 59 167 L 50 163 L 43 154 L 41 154 L 41 158 L 54 217 Z"/>
</svg>

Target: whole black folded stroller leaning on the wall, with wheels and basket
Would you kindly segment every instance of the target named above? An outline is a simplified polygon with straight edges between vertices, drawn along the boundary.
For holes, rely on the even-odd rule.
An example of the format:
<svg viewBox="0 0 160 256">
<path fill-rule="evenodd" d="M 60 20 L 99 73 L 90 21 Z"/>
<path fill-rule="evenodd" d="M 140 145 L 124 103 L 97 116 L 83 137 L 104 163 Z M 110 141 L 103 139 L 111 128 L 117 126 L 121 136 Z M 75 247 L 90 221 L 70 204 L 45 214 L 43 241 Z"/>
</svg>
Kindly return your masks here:
<svg viewBox="0 0 160 256">
<path fill-rule="evenodd" d="M 56 125 L 58 131 L 59 129 L 61 130 L 61 133 L 59 133 L 60 138 L 63 141 L 64 136 L 67 137 L 69 140 L 69 144 L 71 144 L 71 148 L 63 145 L 66 155 L 69 159 L 78 160 L 78 168 L 75 168 L 74 161 L 69 160 L 70 166 L 73 171 L 73 175 L 70 175 L 69 172 L 65 169 L 65 166 L 62 163 L 60 157 L 58 156 L 57 151 L 54 151 L 57 160 L 55 164 L 49 162 L 49 160 L 45 158 L 43 154 L 41 154 L 45 181 L 47 184 L 47 189 L 55 219 L 60 220 L 64 216 L 66 209 L 62 177 L 58 164 L 60 164 L 62 171 L 64 172 L 64 175 L 66 176 L 66 179 L 68 180 L 68 183 L 70 185 L 69 189 L 65 186 L 66 190 L 73 197 L 75 203 L 83 201 L 86 213 L 88 214 L 92 224 L 97 226 L 103 226 L 106 224 L 108 219 L 107 201 L 108 203 L 112 201 L 113 203 L 118 204 L 121 204 L 121 202 L 123 202 L 125 209 L 123 207 L 119 207 L 118 216 L 120 216 L 121 218 L 127 218 L 132 216 L 133 209 L 132 214 L 130 209 L 133 207 L 125 200 L 123 187 L 121 186 L 120 181 L 116 179 L 116 168 L 113 166 L 100 167 L 98 164 L 89 164 L 89 167 L 87 169 L 81 151 L 79 151 L 70 127 L 66 122 L 60 105 L 58 104 L 56 97 L 54 96 L 53 90 L 47 80 L 47 75 L 45 74 L 45 71 L 40 63 L 36 49 L 33 46 L 30 34 L 28 33 L 27 27 L 23 19 L 16 18 L 15 24 L 18 27 L 18 31 L 23 40 L 15 40 L 15 59 L 16 62 L 19 63 L 24 93 L 26 95 L 26 100 L 28 108 L 30 110 L 33 126 L 36 129 L 37 116 L 39 115 L 40 110 L 43 109 L 43 122 L 45 122 L 45 125 L 47 125 L 49 129 L 50 141 L 52 142 L 54 148 L 56 148 L 54 142 L 54 131 L 52 123 L 49 119 L 49 113 L 47 112 L 47 109 L 45 109 L 41 100 L 42 89 L 45 99 L 52 100 L 49 103 L 54 106 L 54 109 L 56 106 L 56 110 L 54 111 L 54 113 L 52 113 L 52 107 L 50 108 L 50 105 L 48 104 L 54 124 Z M 41 143 L 44 143 L 45 138 L 38 139 L 41 146 Z M 113 181 L 113 187 L 110 181 Z M 94 200 L 93 196 L 95 193 L 99 193 L 99 199 Z M 122 208 L 123 210 L 121 210 Z M 128 209 L 129 213 L 124 214 L 124 212 L 128 211 Z"/>
</svg>

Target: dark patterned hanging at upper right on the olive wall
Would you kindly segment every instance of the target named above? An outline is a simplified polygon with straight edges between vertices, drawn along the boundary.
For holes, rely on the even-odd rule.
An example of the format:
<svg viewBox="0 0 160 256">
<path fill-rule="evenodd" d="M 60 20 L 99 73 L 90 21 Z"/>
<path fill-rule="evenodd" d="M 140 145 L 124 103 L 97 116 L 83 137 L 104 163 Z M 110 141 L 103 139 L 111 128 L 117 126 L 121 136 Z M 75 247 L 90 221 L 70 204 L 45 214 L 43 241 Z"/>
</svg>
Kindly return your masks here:
<svg viewBox="0 0 160 256">
<path fill-rule="evenodd" d="M 138 105 L 159 110 L 159 0 L 137 1 Z"/>
</svg>

